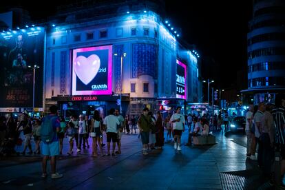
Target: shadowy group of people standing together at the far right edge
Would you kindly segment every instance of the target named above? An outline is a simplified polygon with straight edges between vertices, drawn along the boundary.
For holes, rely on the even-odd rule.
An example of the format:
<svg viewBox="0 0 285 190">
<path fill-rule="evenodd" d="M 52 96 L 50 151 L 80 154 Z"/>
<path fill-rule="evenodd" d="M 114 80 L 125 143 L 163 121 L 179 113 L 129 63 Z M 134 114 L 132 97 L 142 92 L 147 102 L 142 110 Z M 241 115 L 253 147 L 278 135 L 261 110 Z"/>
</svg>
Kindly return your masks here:
<svg viewBox="0 0 285 190">
<path fill-rule="evenodd" d="M 251 160 L 257 160 L 264 176 L 270 180 L 273 180 L 275 151 L 279 151 L 281 155 L 281 179 L 285 173 L 284 108 L 285 97 L 277 94 L 275 105 L 265 103 L 250 105 L 249 111 L 246 112 L 246 156 Z M 285 187 L 284 184 L 282 187 Z"/>
</svg>

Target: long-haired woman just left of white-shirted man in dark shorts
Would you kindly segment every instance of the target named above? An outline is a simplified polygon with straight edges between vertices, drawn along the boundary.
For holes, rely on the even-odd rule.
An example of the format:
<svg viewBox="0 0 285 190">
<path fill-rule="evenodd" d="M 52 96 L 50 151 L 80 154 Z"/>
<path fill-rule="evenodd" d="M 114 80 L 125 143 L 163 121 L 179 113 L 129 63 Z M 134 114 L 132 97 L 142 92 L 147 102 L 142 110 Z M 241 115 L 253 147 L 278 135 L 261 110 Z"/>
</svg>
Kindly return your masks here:
<svg viewBox="0 0 285 190">
<path fill-rule="evenodd" d="M 92 133 L 92 157 L 98 157 L 97 153 L 97 143 L 98 147 L 101 151 L 101 155 L 103 154 L 102 145 L 101 145 L 101 138 L 102 138 L 102 118 L 100 116 L 100 112 L 98 110 L 94 111 L 93 118 L 91 121 L 91 128 L 89 131 Z"/>
</svg>

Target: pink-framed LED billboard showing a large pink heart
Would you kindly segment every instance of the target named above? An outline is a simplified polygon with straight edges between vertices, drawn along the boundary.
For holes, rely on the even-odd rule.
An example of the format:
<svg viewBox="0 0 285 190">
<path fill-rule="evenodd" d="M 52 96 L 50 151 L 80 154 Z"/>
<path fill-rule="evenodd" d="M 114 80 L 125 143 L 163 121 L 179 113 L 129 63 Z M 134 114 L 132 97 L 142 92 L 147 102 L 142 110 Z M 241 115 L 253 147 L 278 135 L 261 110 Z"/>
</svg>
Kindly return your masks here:
<svg viewBox="0 0 285 190">
<path fill-rule="evenodd" d="M 72 95 L 112 94 L 112 45 L 73 50 Z"/>
</svg>

